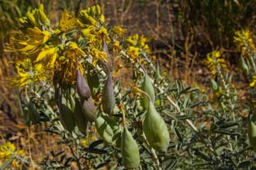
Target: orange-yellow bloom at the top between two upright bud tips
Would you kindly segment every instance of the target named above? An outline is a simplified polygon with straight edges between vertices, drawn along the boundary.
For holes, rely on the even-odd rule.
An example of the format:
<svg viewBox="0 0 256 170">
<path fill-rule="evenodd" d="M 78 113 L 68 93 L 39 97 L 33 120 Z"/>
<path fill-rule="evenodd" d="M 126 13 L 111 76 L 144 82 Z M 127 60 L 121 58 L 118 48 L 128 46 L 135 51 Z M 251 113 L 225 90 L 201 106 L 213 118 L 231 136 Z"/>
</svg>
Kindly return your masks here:
<svg viewBox="0 0 256 170">
<path fill-rule="evenodd" d="M 74 17 L 74 13 L 71 15 L 67 11 L 61 14 L 61 20 L 59 22 L 59 29 L 61 32 L 65 32 L 74 29 L 77 26 L 77 19 Z"/>
</svg>

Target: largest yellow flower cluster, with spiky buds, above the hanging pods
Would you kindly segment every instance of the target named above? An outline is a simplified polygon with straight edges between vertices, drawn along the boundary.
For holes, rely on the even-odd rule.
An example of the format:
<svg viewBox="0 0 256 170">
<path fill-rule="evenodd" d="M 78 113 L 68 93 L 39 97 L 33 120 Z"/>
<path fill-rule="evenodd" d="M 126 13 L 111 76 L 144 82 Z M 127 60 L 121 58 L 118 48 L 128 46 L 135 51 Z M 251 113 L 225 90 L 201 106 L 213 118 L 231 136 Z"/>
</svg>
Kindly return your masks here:
<svg viewBox="0 0 256 170">
<path fill-rule="evenodd" d="M 6 52 L 18 52 L 23 56 L 16 64 L 17 76 L 11 80 L 13 86 L 22 87 L 27 83 L 47 81 L 52 75 L 61 83 L 74 84 L 77 69 L 84 73 L 82 62 L 92 57 L 95 66 L 99 59 L 107 62 L 107 55 L 102 51 L 103 41 L 111 42 L 108 30 L 104 27 L 104 15 L 99 5 L 74 13 L 64 11 L 56 29 L 50 28 L 50 21 L 43 12 L 43 5 L 27 12 L 19 19 L 22 24 L 22 36 L 13 38 L 17 48 L 8 45 Z M 70 32 L 81 27 L 78 32 Z M 121 29 L 119 32 L 122 32 Z M 70 42 L 78 37 L 76 42 Z M 84 44 L 79 42 L 85 42 Z"/>
</svg>

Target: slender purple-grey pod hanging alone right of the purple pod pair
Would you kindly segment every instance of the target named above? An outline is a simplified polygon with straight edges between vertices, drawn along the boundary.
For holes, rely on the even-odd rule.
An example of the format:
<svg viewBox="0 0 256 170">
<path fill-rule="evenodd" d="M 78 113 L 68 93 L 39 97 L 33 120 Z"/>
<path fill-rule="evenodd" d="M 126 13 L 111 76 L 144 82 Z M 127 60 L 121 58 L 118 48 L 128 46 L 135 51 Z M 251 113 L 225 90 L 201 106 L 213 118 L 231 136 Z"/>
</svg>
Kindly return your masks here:
<svg viewBox="0 0 256 170">
<path fill-rule="evenodd" d="M 106 83 L 102 92 L 103 111 L 106 114 L 109 114 L 109 115 L 112 114 L 115 104 L 116 104 L 116 99 L 115 99 L 114 89 L 112 86 L 112 77 L 111 77 L 111 74 L 109 73 L 109 76 L 106 80 Z"/>
</svg>

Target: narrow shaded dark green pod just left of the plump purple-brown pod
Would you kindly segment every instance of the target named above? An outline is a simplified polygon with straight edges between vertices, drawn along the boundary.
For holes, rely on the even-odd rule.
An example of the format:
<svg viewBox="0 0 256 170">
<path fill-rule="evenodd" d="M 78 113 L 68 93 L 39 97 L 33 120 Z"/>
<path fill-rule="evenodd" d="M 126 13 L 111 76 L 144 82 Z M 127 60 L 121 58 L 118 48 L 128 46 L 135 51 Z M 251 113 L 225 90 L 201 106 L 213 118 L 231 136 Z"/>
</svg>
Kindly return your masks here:
<svg viewBox="0 0 256 170">
<path fill-rule="evenodd" d="M 74 121 L 76 122 L 79 131 L 81 131 L 82 134 L 86 135 L 88 121 L 85 118 L 85 115 L 81 111 L 81 104 L 78 99 L 75 100 Z"/>
</svg>

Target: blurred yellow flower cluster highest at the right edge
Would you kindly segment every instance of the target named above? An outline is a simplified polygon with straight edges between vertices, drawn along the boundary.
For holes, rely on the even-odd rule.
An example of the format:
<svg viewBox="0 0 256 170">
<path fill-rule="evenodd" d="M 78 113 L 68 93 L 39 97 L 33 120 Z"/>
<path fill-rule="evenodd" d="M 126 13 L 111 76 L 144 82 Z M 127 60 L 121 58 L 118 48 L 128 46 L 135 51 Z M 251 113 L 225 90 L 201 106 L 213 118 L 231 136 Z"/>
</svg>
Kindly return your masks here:
<svg viewBox="0 0 256 170">
<path fill-rule="evenodd" d="M 248 29 L 235 32 L 234 42 L 242 56 L 252 56 L 255 53 L 254 42 Z"/>
</svg>

